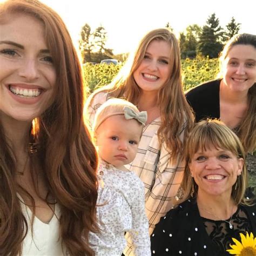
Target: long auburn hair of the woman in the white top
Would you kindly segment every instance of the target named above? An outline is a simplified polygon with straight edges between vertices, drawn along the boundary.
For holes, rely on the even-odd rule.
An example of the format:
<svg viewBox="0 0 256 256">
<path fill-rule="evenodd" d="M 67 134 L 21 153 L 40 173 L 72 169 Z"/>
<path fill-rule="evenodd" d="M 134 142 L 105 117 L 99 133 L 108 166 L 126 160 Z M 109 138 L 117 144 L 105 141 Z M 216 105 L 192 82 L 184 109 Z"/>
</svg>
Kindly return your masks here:
<svg viewBox="0 0 256 256">
<path fill-rule="evenodd" d="M 36 0 L 0 4 L 0 23 L 21 14 L 44 26 L 45 41 L 56 69 L 53 104 L 35 120 L 36 157 L 49 193 L 61 208 L 60 237 L 73 256 L 94 255 L 89 231 L 97 231 L 97 154 L 83 122 L 84 86 L 80 62 L 68 30 L 55 11 Z M 11 31 L 10 31 L 11 33 Z M 1 72 L 1 71 L 0 71 Z M 1 122 L 1 120 L 0 120 Z M 29 137 L 29 134 L 28 134 Z M 16 159 L 0 123 L 0 255 L 21 254 L 28 223 L 17 197 Z M 34 185 L 37 177 L 33 174 Z M 45 201 L 48 203 L 47 199 Z M 33 208 L 35 213 L 35 201 Z"/>
</svg>

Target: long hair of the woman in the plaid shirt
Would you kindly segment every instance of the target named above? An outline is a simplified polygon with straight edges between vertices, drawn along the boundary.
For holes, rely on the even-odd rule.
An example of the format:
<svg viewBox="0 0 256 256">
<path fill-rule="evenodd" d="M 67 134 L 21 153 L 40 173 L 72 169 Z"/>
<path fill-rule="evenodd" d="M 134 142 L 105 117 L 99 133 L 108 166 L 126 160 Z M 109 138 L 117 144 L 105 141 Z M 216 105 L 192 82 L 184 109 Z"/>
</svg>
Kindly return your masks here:
<svg viewBox="0 0 256 256">
<path fill-rule="evenodd" d="M 193 117 L 186 102 L 181 82 L 179 43 L 172 32 L 167 29 L 156 29 L 147 33 L 139 42 L 137 50 L 129 56 L 123 69 L 113 82 L 96 90 L 90 99 L 92 100 L 94 95 L 103 91 L 109 92 L 110 97 L 125 97 L 129 102 L 138 105 L 140 87 L 136 84 L 133 73 L 142 63 L 147 46 L 153 40 L 164 41 L 171 46 L 171 75 L 158 93 L 157 104 L 160 106 L 161 115 L 158 138 L 159 142 L 164 141 L 166 143 L 171 157 L 177 158 L 180 152 L 183 151 L 183 142 L 180 139 L 180 134 L 184 131 L 184 138 L 186 138 L 187 132 L 193 125 Z"/>
</svg>

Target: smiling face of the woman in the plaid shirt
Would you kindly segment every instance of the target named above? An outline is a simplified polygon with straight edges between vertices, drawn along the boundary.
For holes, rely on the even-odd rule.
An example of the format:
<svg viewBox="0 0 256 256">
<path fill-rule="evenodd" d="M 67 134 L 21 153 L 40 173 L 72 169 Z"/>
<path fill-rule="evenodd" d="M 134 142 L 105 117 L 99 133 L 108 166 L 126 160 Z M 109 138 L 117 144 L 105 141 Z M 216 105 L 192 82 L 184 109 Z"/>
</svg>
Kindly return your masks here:
<svg viewBox="0 0 256 256">
<path fill-rule="evenodd" d="M 154 39 L 147 46 L 145 56 L 133 77 L 143 91 L 158 92 L 171 75 L 171 46 L 163 40 Z"/>
</svg>

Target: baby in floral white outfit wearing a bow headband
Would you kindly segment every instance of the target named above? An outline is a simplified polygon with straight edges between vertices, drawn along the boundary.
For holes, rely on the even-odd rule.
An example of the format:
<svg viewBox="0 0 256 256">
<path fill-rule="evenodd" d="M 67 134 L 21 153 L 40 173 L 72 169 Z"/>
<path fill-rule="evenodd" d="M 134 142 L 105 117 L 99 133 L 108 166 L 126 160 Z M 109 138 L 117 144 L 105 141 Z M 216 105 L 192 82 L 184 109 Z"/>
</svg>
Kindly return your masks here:
<svg viewBox="0 0 256 256">
<path fill-rule="evenodd" d="M 96 255 L 122 255 L 126 238 L 134 255 L 151 255 L 143 182 L 125 165 L 136 156 L 146 112 L 124 99 L 99 107 L 93 132 L 99 154 L 97 218 L 100 233 L 90 233 Z"/>
</svg>

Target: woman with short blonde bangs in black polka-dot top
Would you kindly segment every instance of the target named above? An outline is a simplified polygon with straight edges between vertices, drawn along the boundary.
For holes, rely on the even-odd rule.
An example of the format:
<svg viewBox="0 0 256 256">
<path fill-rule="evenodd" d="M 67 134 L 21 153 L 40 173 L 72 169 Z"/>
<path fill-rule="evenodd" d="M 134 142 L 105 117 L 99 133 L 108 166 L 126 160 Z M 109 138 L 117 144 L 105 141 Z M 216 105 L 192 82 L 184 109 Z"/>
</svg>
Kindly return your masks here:
<svg viewBox="0 0 256 256">
<path fill-rule="evenodd" d="M 242 144 L 224 123 L 203 120 L 188 136 L 185 159 L 184 197 L 153 231 L 152 255 L 230 255 L 232 238 L 256 232 Z"/>
</svg>

